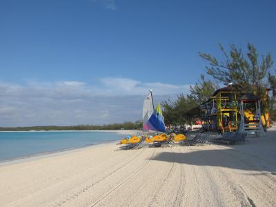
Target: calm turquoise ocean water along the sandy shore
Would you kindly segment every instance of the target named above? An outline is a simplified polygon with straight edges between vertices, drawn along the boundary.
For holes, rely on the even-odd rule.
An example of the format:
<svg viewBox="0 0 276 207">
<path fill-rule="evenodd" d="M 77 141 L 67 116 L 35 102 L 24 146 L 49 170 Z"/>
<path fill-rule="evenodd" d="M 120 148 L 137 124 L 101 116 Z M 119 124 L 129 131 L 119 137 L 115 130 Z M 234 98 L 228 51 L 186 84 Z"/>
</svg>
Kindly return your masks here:
<svg viewBox="0 0 276 207">
<path fill-rule="evenodd" d="M 0 161 L 108 143 L 117 132 L 0 132 Z"/>
</svg>

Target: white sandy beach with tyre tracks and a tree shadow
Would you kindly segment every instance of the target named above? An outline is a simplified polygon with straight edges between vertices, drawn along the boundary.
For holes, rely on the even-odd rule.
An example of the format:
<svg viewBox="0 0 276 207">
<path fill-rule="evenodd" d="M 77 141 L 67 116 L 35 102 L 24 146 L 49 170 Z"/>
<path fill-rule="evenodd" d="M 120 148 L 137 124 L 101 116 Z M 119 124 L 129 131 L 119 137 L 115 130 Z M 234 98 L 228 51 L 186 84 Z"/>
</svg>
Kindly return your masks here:
<svg viewBox="0 0 276 207">
<path fill-rule="evenodd" d="M 101 144 L 0 166 L 0 206 L 276 206 L 276 132 L 234 146 Z"/>
</svg>

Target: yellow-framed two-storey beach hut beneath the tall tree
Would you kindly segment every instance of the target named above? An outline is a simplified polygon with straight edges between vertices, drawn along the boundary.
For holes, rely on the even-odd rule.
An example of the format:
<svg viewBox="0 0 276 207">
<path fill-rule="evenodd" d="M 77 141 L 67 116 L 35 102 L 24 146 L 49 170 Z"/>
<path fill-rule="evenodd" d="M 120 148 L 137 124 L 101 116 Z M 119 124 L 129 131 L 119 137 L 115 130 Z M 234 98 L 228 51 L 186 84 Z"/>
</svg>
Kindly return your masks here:
<svg viewBox="0 0 276 207">
<path fill-rule="evenodd" d="M 266 90 L 268 99 L 268 90 Z M 239 122 L 241 120 L 240 99 L 243 97 L 250 97 L 252 95 L 248 92 L 236 92 L 232 86 L 226 86 L 224 88 L 219 88 L 213 94 L 208 101 L 201 104 L 201 121 L 202 127 L 205 130 L 215 130 L 215 131 L 233 131 L 237 130 L 239 127 Z M 255 97 L 257 100 L 257 97 Z M 244 110 L 244 119 L 253 120 L 255 110 L 253 107 L 249 106 Z M 268 121 L 269 113 L 266 116 L 262 116 L 262 124 L 270 126 Z"/>
</svg>

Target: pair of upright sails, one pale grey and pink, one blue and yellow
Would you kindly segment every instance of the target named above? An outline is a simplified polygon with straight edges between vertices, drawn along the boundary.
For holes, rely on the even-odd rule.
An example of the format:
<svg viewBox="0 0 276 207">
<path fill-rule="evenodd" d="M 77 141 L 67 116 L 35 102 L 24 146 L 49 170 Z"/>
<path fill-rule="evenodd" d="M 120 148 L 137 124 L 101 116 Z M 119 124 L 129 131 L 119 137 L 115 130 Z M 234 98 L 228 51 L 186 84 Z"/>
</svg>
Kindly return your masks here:
<svg viewBox="0 0 276 207">
<path fill-rule="evenodd" d="M 158 104 L 154 110 L 151 92 L 144 100 L 143 129 L 166 132 L 161 106 Z"/>
</svg>

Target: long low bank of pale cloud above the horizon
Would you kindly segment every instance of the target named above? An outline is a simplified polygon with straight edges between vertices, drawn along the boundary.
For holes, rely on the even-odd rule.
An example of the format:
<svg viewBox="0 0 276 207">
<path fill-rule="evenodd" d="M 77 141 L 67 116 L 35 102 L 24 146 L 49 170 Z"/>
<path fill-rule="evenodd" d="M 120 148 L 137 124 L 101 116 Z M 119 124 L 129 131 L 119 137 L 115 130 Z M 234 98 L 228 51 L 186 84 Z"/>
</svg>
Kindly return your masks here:
<svg viewBox="0 0 276 207">
<path fill-rule="evenodd" d="M 24 84 L 0 81 L 0 126 L 108 124 L 141 119 L 148 90 L 155 102 L 188 92 L 189 86 L 144 83 L 134 79 L 105 77 L 82 81 Z"/>
</svg>

